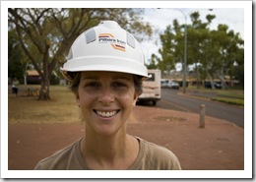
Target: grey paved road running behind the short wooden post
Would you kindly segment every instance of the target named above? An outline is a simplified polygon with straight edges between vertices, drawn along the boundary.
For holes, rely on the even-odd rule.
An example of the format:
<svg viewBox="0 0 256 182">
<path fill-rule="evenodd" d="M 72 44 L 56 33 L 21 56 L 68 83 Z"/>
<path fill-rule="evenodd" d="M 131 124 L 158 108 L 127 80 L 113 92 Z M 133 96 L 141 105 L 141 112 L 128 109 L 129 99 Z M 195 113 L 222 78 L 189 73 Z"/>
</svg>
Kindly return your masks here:
<svg viewBox="0 0 256 182">
<path fill-rule="evenodd" d="M 241 128 L 244 127 L 243 108 L 221 102 L 184 96 L 182 94 L 177 94 L 178 92 L 179 91 L 162 89 L 161 100 L 157 103 L 157 107 L 200 113 L 200 105 L 205 104 L 207 115 L 230 121 Z"/>
</svg>

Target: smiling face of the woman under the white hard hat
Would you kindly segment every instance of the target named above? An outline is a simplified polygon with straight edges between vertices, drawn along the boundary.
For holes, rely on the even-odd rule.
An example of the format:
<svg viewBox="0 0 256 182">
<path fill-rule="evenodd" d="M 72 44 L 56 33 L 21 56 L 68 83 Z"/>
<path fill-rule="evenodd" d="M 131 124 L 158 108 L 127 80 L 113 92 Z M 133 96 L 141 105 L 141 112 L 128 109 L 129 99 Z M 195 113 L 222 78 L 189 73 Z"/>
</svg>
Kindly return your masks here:
<svg viewBox="0 0 256 182">
<path fill-rule="evenodd" d="M 137 98 L 133 76 L 130 74 L 81 74 L 77 101 L 89 129 L 87 131 L 104 136 L 125 133 L 126 121 Z"/>
</svg>

